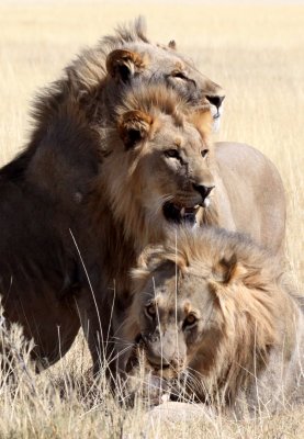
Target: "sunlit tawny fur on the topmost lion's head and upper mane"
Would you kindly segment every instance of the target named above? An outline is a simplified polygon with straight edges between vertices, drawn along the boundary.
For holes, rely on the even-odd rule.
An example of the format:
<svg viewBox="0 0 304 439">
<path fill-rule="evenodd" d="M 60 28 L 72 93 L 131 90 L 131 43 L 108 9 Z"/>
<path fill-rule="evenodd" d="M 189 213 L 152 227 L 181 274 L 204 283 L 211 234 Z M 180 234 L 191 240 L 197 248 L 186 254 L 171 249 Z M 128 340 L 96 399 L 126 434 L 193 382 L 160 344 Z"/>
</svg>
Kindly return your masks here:
<svg viewBox="0 0 304 439">
<path fill-rule="evenodd" d="M 130 70 L 127 79 L 111 75 L 114 61 L 121 61 Z M 182 86 L 179 79 L 174 79 L 177 69 L 181 69 L 188 78 Z M 207 103 L 206 95 L 223 95 L 221 87 L 201 75 L 182 55 L 150 43 L 144 21 L 138 19 L 130 26 L 117 27 L 114 35 L 103 37 L 95 47 L 79 54 L 66 67 L 63 77 L 38 94 L 32 111 L 35 130 L 27 149 L 38 147 L 54 117 L 67 102 L 72 101 L 74 112 L 85 116 L 91 130 L 106 126 L 125 86 L 132 85 L 138 75 L 145 82 L 155 80 L 174 88 L 193 105 L 212 105 Z M 195 88 L 191 81 L 196 83 Z"/>
</svg>

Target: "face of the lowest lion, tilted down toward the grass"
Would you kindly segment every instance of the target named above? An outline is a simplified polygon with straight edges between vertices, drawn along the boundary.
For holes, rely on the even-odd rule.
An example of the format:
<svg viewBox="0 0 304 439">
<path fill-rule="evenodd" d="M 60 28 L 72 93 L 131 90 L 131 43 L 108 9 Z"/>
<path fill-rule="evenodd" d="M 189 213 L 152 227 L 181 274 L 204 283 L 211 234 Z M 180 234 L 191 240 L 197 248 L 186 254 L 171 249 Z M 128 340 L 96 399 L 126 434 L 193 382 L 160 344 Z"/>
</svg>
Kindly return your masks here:
<svg viewBox="0 0 304 439">
<path fill-rule="evenodd" d="M 218 303 L 204 277 L 179 272 L 165 261 L 135 296 L 137 340 L 148 369 L 164 378 L 183 372 L 200 356 L 207 371 L 221 340 Z"/>
</svg>

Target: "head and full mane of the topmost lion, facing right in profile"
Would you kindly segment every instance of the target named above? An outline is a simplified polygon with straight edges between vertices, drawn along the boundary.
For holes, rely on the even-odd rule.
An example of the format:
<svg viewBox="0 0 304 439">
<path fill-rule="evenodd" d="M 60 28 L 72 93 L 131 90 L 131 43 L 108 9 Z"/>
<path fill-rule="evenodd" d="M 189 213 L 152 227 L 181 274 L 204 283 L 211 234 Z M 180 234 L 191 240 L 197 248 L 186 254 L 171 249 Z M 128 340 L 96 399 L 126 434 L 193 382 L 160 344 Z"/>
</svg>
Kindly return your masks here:
<svg viewBox="0 0 304 439">
<path fill-rule="evenodd" d="M 173 42 L 151 43 L 139 18 L 80 53 L 57 81 L 37 94 L 31 139 L 9 167 L 24 169 L 35 161 L 50 168 L 46 176 L 45 169 L 41 172 L 46 190 L 63 203 L 79 204 L 100 169 L 100 131 L 111 122 L 125 88 L 135 86 L 138 77 L 173 88 L 194 106 L 209 108 L 216 131 L 225 98 L 221 86 L 200 74 Z M 77 140 L 79 136 L 83 142 Z"/>
</svg>

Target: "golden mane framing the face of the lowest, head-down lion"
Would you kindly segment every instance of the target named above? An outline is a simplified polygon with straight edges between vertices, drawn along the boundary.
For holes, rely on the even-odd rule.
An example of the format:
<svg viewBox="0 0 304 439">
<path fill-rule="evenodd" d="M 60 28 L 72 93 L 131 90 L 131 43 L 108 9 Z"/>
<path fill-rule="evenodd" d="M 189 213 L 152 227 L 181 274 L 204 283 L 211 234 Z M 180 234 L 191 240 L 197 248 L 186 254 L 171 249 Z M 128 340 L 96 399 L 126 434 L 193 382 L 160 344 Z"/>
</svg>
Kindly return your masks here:
<svg viewBox="0 0 304 439">
<path fill-rule="evenodd" d="M 134 304 L 126 323 L 131 337 L 139 331 L 138 299 L 148 279 L 157 270 L 164 272 L 168 261 L 178 268 L 178 301 L 187 293 L 182 291 L 184 275 L 198 285 L 198 294 L 204 279 L 217 309 L 218 333 L 214 329 L 211 346 L 204 339 L 209 353 L 200 348 L 196 352 L 204 362 L 195 356 L 190 360 L 190 370 L 199 378 L 192 391 L 200 398 L 219 395 L 223 404 L 234 404 L 241 389 L 254 385 L 272 364 L 273 351 L 290 359 L 296 349 L 295 325 L 302 314 L 279 260 L 240 234 L 213 227 L 198 233 L 179 229 L 165 246 L 147 248 L 140 267 L 132 272 Z"/>
</svg>

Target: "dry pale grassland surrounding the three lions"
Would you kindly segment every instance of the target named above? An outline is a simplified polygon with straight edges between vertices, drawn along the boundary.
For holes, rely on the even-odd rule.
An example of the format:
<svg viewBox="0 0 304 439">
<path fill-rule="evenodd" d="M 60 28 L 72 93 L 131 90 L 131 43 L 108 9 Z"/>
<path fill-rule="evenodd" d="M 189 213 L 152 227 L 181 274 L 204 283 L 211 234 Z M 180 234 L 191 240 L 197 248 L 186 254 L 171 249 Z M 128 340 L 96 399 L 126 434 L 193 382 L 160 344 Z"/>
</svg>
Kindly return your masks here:
<svg viewBox="0 0 304 439">
<path fill-rule="evenodd" d="M 81 47 L 142 13 L 153 41 L 174 38 L 201 71 L 225 88 L 225 115 L 216 139 L 249 143 L 278 166 L 288 198 L 290 268 L 302 291 L 304 5 L 164 3 L 2 1 L 0 164 L 26 142 L 30 102 L 37 88 L 56 79 Z M 16 349 L 19 337 L 11 344 Z M 90 359 L 81 336 L 66 358 L 41 375 L 23 367 L 20 356 L 16 363 L 15 389 L 0 386 L 1 438 L 304 437 L 302 407 L 241 423 L 225 416 L 207 420 L 203 415 L 193 423 L 147 421 L 139 403 L 133 410 L 119 408 L 105 390 L 100 391 L 102 383 L 86 379 Z"/>
</svg>

